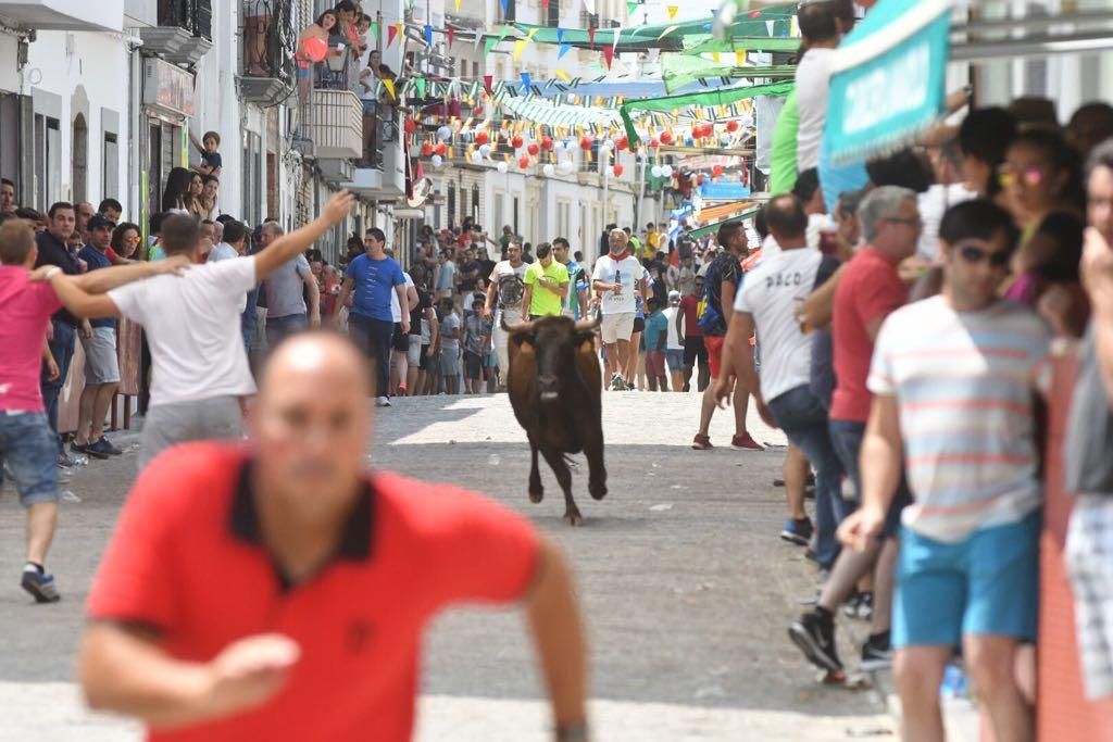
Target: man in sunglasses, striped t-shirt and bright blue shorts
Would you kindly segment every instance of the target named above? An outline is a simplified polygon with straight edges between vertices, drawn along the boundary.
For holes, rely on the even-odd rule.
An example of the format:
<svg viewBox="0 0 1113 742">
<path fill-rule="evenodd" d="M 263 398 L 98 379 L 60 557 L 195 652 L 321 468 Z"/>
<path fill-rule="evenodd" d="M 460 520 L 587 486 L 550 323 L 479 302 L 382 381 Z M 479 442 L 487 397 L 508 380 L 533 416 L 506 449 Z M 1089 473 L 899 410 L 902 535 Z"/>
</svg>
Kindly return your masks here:
<svg viewBox="0 0 1113 742">
<path fill-rule="evenodd" d="M 839 536 L 870 548 L 906 474 L 915 502 L 902 518 L 893 607 L 905 739 L 944 739 L 939 684 L 959 643 L 994 739 L 1034 733 L 1013 669 L 1021 643 L 1035 640 L 1035 397 L 1051 333 L 998 298 L 1016 237 L 991 201 L 951 208 L 939 225 L 943 294 L 897 309 L 877 336 L 864 503 Z"/>
</svg>

